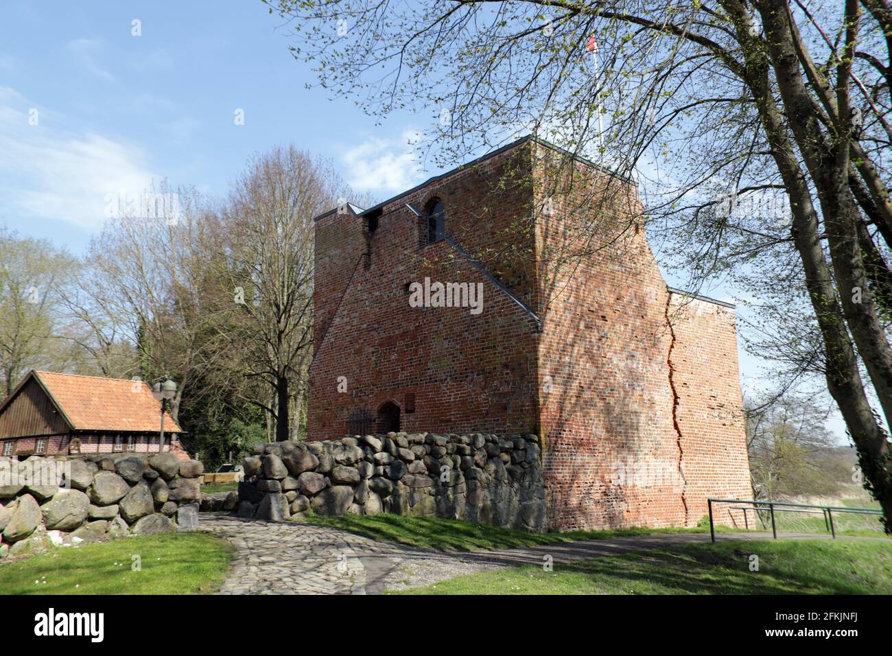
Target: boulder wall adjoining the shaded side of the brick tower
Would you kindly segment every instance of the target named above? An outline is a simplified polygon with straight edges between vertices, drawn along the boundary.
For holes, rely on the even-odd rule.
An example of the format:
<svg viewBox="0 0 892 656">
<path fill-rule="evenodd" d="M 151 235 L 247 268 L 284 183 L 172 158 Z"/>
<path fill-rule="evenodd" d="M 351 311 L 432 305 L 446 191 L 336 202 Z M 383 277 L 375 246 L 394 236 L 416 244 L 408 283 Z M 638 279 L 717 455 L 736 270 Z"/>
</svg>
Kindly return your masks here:
<svg viewBox="0 0 892 656">
<path fill-rule="evenodd" d="M 545 530 L 539 437 L 388 433 L 258 444 L 239 517 L 398 515 Z"/>
</svg>

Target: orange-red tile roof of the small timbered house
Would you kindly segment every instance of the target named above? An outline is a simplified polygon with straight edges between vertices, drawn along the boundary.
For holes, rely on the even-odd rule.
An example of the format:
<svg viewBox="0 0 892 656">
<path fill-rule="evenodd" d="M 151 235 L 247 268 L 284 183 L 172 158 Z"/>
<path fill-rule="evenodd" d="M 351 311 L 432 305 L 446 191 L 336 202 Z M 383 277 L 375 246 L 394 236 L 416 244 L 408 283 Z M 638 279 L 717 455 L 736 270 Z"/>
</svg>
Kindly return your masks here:
<svg viewBox="0 0 892 656">
<path fill-rule="evenodd" d="M 161 403 L 145 381 L 54 371 L 35 371 L 34 375 L 75 430 L 153 432 L 160 428 Z M 169 411 L 164 412 L 164 432 L 183 432 Z"/>
</svg>

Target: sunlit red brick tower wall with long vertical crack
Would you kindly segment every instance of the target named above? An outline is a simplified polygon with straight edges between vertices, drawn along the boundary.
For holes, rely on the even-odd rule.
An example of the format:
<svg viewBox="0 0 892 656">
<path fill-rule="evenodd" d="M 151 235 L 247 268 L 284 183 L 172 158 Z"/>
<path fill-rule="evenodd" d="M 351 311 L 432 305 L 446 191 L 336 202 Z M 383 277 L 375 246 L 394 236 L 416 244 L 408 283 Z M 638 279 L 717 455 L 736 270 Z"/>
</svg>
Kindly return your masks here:
<svg viewBox="0 0 892 656">
<path fill-rule="evenodd" d="M 558 174 L 537 159 L 538 206 L 550 197 L 556 211 L 542 217 L 537 240 L 549 299 L 539 350 L 549 527 L 690 526 L 705 513 L 706 494 L 751 495 L 733 312 L 702 311 L 673 326 L 673 345 L 669 293 L 633 187 L 580 168 L 570 190 L 558 191 L 566 189 L 553 183 Z M 573 257 L 564 262 L 561 253 Z M 671 309 L 669 317 L 681 320 Z M 711 404 L 735 420 L 718 421 L 705 409 Z M 715 450 L 733 459 L 704 457 Z"/>
</svg>

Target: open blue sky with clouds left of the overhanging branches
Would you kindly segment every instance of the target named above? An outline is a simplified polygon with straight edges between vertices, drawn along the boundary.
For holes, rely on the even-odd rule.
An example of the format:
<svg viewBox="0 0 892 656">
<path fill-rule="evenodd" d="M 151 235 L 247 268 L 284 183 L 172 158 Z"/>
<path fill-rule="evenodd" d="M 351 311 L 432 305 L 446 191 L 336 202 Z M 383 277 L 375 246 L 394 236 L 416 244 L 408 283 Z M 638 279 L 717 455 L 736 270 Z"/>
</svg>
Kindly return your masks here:
<svg viewBox="0 0 892 656">
<path fill-rule="evenodd" d="M 251 154 L 276 144 L 330 158 L 382 199 L 438 172 L 420 170 L 407 146 L 430 117 L 376 125 L 351 98 L 307 89 L 315 74 L 260 0 L 48 5 L 4 3 L 0 23 L 0 224 L 23 236 L 79 253 L 109 194 L 166 178 L 223 195 Z M 770 379 L 770 363 L 742 347 L 740 364 L 745 388 Z M 843 435 L 841 419 L 831 428 Z"/>
</svg>

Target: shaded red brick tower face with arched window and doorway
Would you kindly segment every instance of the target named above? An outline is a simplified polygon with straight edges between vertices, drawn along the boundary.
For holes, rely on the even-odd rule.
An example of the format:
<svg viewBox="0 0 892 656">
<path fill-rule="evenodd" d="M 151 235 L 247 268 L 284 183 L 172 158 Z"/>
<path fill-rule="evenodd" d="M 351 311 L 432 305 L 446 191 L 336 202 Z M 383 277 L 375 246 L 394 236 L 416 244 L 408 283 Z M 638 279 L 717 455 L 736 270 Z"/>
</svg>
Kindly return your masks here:
<svg viewBox="0 0 892 656">
<path fill-rule="evenodd" d="M 317 221 L 310 439 L 344 436 L 351 413 L 376 417 L 385 402 L 400 406 L 404 430 L 534 432 L 533 320 L 449 244 L 424 245 L 426 222 L 405 206 L 423 211 L 440 198 L 450 235 L 532 303 L 533 239 L 527 231 L 524 245 L 528 226 L 518 225 L 531 216 L 529 162 L 528 148 L 519 149 L 386 205 L 368 246 L 359 217 Z M 367 247 L 368 265 L 359 262 Z M 407 285 L 425 277 L 483 283 L 482 313 L 409 307 Z"/>
</svg>

